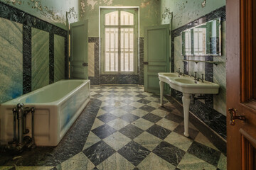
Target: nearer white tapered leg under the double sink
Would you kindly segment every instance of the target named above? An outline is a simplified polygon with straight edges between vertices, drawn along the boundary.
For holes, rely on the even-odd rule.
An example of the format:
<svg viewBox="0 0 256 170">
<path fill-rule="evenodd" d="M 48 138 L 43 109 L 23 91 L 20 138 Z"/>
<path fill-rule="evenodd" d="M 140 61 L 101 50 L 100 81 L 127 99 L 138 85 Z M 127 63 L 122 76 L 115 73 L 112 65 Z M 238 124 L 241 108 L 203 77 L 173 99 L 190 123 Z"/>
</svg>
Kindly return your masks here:
<svg viewBox="0 0 256 170">
<path fill-rule="evenodd" d="M 188 133 L 188 115 L 189 115 L 189 106 L 191 103 L 190 94 L 184 94 L 182 96 L 183 103 L 183 114 L 184 114 L 184 135 L 189 137 Z"/>
</svg>

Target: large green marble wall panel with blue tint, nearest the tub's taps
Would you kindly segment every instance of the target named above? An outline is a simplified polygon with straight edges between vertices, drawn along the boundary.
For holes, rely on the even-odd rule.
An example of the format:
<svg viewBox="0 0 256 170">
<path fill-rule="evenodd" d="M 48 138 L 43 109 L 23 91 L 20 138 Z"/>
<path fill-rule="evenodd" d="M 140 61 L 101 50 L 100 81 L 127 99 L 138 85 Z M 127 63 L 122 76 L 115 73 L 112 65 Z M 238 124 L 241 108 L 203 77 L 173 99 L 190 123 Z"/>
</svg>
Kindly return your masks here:
<svg viewBox="0 0 256 170">
<path fill-rule="evenodd" d="M 22 25 L 0 18 L 0 103 L 22 95 Z"/>
</svg>

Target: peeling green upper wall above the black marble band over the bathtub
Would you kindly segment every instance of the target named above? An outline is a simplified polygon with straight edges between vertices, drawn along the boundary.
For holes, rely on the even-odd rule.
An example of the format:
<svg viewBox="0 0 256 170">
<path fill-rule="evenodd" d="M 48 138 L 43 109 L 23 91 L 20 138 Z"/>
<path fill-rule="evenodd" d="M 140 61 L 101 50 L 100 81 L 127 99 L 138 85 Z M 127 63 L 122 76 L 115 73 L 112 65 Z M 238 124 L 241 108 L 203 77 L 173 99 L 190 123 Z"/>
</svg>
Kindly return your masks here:
<svg viewBox="0 0 256 170">
<path fill-rule="evenodd" d="M 70 11 L 69 22 L 78 21 L 79 0 L 0 0 L 25 11 L 55 26 L 67 29 L 66 12 Z"/>
</svg>

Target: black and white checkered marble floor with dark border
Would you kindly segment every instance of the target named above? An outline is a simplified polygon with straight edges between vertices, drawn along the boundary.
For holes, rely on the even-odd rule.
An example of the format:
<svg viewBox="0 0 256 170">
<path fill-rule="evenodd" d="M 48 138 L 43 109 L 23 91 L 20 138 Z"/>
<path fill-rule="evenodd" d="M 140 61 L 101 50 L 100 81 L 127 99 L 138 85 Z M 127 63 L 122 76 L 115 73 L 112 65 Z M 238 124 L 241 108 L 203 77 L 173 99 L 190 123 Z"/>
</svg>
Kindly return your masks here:
<svg viewBox="0 0 256 170">
<path fill-rule="evenodd" d="M 160 107 L 159 95 L 142 86 L 92 86 L 91 98 L 97 113 L 79 152 L 55 164 L 0 162 L 0 169 L 226 169 L 225 155 L 191 123 L 191 137 L 183 136 L 183 113 L 166 98 Z"/>
</svg>

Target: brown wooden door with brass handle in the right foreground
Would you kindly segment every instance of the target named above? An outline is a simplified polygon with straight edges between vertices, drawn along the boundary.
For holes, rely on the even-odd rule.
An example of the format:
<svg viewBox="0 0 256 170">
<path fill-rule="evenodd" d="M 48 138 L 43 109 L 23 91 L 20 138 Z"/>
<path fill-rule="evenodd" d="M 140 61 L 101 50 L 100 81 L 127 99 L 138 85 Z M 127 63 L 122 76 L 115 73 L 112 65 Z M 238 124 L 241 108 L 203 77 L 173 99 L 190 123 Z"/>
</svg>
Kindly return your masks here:
<svg viewBox="0 0 256 170">
<path fill-rule="evenodd" d="M 228 169 L 256 169 L 255 0 L 227 0 L 226 12 Z M 230 125 L 233 114 L 244 117 Z"/>
</svg>

